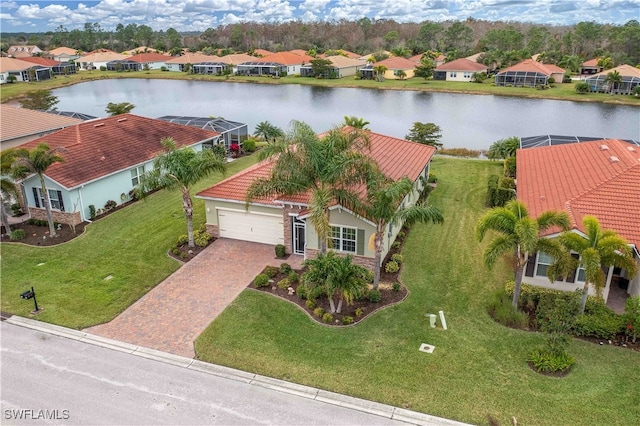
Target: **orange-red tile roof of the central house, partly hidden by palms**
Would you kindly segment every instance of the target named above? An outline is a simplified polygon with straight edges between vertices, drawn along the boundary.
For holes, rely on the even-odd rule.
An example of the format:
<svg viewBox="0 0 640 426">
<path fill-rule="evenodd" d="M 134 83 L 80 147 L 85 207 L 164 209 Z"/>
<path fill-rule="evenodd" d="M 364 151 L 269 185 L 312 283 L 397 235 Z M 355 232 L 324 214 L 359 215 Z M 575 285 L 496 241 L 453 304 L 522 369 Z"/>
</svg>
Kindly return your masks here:
<svg viewBox="0 0 640 426">
<path fill-rule="evenodd" d="M 378 163 L 387 176 L 398 180 L 407 176 L 415 181 L 435 154 L 435 148 L 404 139 L 397 139 L 379 133 L 367 132 L 370 141 L 369 155 Z M 322 136 L 322 135 L 320 135 Z M 199 197 L 244 202 L 247 189 L 254 179 L 268 178 L 273 161 L 265 161 L 231 176 L 222 182 L 198 193 Z M 307 204 L 308 194 L 301 193 L 289 197 L 279 197 L 282 201 Z M 273 199 L 256 200 L 261 204 L 280 205 Z"/>
</svg>

